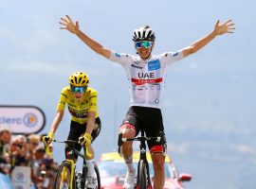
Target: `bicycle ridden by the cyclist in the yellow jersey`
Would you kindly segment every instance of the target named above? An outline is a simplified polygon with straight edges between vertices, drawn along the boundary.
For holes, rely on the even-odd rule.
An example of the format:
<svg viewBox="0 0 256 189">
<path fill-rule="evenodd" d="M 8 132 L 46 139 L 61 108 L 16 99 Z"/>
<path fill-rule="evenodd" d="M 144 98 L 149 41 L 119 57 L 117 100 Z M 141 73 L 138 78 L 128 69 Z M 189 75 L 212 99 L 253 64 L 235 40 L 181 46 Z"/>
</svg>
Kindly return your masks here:
<svg viewBox="0 0 256 189">
<path fill-rule="evenodd" d="M 75 148 L 78 141 L 53 140 L 53 142 L 64 143 L 69 149 L 67 159 L 64 160 L 59 166 L 54 182 L 54 189 L 83 189 L 86 182 L 87 166 L 84 155 Z M 88 156 L 90 156 L 87 148 L 83 147 L 83 150 Z M 82 158 L 82 172 L 76 170 L 75 154 Z M 101 189 L 101 177 L 97 163 L 94 164 L 94 170 L 97 176 L 97 185 L 93 189 Z"/>
</svg>

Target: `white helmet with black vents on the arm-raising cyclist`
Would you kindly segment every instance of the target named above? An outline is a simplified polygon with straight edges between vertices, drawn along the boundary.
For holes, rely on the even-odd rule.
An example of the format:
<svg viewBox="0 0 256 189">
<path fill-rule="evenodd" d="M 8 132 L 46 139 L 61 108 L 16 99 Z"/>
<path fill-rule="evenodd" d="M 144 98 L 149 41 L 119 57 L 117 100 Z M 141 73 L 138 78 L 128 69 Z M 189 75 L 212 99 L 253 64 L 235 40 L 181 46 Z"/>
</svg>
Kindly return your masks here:
<svg viewBox="0 0 256 189">
<path fill-rule="evenodd" d="M 134 31 L 133 41 L 155 42 L 155 32 L 152 30 L 152 28 L 150 28 L 150 26 L 139 27 Z"/>
</svg>

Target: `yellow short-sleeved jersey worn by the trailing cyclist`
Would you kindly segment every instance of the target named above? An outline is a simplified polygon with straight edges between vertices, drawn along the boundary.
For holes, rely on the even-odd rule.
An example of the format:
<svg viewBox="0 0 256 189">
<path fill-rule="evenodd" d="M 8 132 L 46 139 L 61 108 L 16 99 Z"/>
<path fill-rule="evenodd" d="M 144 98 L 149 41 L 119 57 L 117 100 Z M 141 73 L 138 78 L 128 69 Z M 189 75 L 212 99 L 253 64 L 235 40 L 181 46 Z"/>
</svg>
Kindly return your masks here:
<svg viewBox="0 0 256 189">
<path fill-rule="evenodd" d="M 81 101 L 72 95 L 70 87 L 64 87 L 57 111 L 64 111 L 65 104 L 67 104 L 68 111 L 72 115 L 72 120 L 80 124 L 84 124 L 88 119 L 88 112 L 96 112 L 96 117 L 99 117 L 97 111 L 97 91 L 93 88 L 87 88 L 85 95 L 82 96 Z"/>
</svg>

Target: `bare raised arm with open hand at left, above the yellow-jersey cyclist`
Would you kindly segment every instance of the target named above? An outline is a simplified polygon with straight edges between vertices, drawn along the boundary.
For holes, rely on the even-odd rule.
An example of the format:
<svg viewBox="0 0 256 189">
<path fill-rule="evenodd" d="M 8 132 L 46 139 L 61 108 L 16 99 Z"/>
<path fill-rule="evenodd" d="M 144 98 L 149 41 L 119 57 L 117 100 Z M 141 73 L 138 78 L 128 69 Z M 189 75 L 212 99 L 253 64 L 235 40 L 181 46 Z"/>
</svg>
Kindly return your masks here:
<svg viewBox="0 0 256 189">
<path fill-rule="evenodd" d="M 78 21 L 76 21 L 75 24 L 68 15 L 65 16 L 66 18 L 61 18 L 60 24 L 62 26 L 60 27 L 60 29 L 66 29 L 71 33 L 77 35 L 82 40 L 82 42 L 89 46 L 92 50 L 94 50 L 101 56 L 109 59 L 111 55 L 111 51 L 109 49 L 104 48 L 100 43 L 96 42 L 95 40 L 89 38 L 86 34 L 84 34 L 79 28 Z"/>
</svg>

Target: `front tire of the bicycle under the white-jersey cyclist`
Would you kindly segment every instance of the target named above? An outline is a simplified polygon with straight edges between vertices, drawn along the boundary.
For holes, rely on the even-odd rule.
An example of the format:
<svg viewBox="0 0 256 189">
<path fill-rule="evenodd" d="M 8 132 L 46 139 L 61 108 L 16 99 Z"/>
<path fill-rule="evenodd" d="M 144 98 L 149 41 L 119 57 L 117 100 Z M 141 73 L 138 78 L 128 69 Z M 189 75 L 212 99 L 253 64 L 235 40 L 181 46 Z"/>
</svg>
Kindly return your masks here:
<svg viewBox="0 0 256 189">
<path fill-rule="evenodd" d="M 147 165 L 144 160 L 137 164 L 137 189 L 147 189 Z"/>
</svg>

